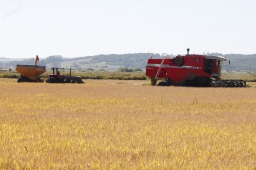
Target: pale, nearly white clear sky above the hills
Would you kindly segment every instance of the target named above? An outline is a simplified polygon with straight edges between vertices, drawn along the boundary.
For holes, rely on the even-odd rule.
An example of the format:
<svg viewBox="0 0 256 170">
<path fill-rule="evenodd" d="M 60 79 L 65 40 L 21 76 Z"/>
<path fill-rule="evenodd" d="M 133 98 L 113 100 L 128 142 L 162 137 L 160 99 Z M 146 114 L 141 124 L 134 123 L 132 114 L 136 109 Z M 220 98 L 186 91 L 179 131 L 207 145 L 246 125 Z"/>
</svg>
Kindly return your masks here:
<svg viewBox="0 0 256 170">
<path fill-rule="evenodd" d="M 255 0 L 1 0 L 0 57 L 256 54 Z"/>
</svg>

